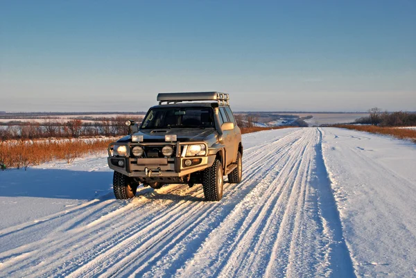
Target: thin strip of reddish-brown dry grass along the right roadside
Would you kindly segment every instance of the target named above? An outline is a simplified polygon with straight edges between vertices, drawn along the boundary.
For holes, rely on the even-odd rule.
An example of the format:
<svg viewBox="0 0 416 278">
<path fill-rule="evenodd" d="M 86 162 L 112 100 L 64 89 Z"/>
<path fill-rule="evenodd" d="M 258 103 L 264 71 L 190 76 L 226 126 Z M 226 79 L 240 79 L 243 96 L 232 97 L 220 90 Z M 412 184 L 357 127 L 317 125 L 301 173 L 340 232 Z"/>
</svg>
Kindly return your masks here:
<svg viewBox="0 0 416 278">
<path fill-rule="evenodd" d="M 335 125 L 336 128 L 347 128 L 376 134 L 392 135 L 399 139 L 410 139 L 416 143 L 416 130 L 410 128 L 382 128 L 375 125 Z"/>
</svg>

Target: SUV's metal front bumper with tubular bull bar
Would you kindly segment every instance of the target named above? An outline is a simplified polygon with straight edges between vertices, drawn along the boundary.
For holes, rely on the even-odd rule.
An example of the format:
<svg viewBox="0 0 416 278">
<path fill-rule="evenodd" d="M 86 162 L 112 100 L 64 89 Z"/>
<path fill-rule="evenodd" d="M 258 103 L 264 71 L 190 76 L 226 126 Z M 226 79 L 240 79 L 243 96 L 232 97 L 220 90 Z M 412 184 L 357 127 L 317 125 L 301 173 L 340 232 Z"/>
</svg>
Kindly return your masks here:
<svg viewBox="0 0 416 278">
<path fill-rule="evenodd" d="M 108 148 L 109 157 L 107 158 L 108 166 L 123 175 L 128 177 L 139 177 L 141 180 L 160 180 L 169 182 L 171 178 L 172 182 L 175 182 L 177 178 L 184 177 L 191 173 L 202 171 L 205 168 L 214 164 L 216 158 L 215 155 L 205 155 L 199 157 L 185 157 L 182 156 L 181 146 L 189 144 L 204 144 L 207 154 L 209 153 L 208 146 L 205 142 L 176 142 L 176 143 L 119 143 L 114 142 L 110 144 Z M 127 157 L 113 157 L 112 148 L 114 145 L 125 145 L 128 149 Z M 146 158 L 146 157 L 134 157 L 131 155 L 130 150 L 134 146 L 176 146 L 175 157 L 161 157 L 161 158 Z M 184 161 L 187 159 L 195 159 L 196 163 L 191 166 L 186 166 Z M 122 160 L 123 166 L 119 166 L 119 161 Z"/>
</svg>

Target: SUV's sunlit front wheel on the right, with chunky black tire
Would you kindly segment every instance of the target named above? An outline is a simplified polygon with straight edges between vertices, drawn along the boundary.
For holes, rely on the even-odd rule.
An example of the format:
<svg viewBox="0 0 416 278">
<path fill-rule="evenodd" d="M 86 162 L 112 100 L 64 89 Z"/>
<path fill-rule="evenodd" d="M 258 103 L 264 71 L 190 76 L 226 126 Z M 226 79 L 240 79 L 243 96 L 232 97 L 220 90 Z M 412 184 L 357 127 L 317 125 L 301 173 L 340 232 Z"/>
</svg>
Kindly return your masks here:
<svg viewBox="0 0 416 278">
<path fill-rule="evenodd" d="M 211 167 L 206 168 L 202 180 L 202 188 L 204 189 L 205 200 L 219 201 L 223 198 L 223 166 L 216 159 Z"/>
</svg>

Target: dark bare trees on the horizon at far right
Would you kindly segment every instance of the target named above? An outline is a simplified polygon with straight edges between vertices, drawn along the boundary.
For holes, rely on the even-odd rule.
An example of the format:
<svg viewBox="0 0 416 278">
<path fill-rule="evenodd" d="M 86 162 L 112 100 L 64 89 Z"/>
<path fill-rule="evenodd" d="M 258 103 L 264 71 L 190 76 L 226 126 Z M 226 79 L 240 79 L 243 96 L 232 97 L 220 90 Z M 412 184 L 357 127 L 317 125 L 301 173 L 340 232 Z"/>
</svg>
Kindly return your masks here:
<svg viewBox="0 0 416 278">
<path fill-rule="evenodd" d="M 369 110 L 369 115 L 355 120 L 355 123 L 379 126 L 416 125 L 415 112 L 381 112 L 377 107 Z"/>
</svg>

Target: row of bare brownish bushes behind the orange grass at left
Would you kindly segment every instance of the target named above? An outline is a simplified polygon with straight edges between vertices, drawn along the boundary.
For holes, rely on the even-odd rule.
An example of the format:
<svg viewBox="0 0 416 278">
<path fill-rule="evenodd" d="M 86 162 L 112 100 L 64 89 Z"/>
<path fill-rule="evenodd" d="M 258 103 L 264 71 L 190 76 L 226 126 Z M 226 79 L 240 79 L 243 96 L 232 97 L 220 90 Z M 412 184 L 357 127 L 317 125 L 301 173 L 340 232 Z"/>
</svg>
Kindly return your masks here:
<svg viewBox="0 0 416 278">
<path fill-rule="evenodd" d="M 45 119 L 43 122 L 21 122 L 19 125 L 8 125 L 0 128 L 0 139 L 40 139 L 40 138 L 78 138 L 96 136 L 123 136 L 128 134 L 129 127 L 125 121 L 132 119 L 141 122 L 141 117 L 116 116 L 107 118 L 104 121 L 85 123 L 80 119 L 73 119 L 67 122 L 58 122 Z"/>
</svg>

